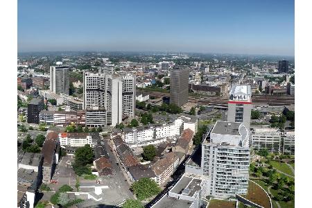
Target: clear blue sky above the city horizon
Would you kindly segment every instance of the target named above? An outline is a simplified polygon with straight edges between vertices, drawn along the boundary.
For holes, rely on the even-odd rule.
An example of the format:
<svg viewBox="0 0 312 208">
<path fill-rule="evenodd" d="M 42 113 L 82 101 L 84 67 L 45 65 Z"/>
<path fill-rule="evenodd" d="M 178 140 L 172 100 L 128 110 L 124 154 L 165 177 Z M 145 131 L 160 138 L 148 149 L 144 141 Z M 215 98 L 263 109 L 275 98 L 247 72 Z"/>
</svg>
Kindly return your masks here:
<svg viewBox="0 0 312 208">
<path fill-rule="evenodd" d="M 18 0 L 18 51 L 294 55 L 294 0 Z"/>
</svg>

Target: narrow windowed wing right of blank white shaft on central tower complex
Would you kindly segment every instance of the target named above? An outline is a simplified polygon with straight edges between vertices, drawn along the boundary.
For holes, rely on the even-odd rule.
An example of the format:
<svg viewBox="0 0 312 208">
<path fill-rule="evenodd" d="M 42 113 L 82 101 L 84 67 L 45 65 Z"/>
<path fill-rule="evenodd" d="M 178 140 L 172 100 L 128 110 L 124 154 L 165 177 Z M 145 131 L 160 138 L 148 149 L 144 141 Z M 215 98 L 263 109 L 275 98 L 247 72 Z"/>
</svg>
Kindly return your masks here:
<svg viewBox="0 0 312 208">
<path fill-rule="evenodd" d="M 135 76 L 122 77 L 123 82 L 123 116 L 135 116 Z"/>
</svg>

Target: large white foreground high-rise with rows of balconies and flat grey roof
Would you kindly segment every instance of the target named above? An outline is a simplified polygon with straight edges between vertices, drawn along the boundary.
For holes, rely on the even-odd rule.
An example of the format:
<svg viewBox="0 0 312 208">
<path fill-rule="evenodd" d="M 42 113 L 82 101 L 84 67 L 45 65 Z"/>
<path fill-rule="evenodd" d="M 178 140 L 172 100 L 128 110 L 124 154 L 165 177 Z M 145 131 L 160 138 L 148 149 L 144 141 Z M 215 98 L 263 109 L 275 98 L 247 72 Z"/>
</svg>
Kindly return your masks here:
<svg viewBox="0 0 312 208">
<path fill-rule="evenodd" d="M 243 123 L 217 121 L 202 142 L 202 174 L 210 196 L 229 198 L 248 191 L 249 132 Z"/>
</svg>

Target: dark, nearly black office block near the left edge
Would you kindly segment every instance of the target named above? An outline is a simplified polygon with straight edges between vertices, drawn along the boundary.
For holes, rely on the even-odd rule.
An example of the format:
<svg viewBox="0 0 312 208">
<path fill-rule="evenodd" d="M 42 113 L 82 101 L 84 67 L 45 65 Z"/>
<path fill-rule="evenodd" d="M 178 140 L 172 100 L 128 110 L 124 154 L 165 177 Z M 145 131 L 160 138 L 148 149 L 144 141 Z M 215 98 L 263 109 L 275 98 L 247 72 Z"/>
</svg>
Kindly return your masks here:
<svg viewBox="0 0 312 208">
<path fill-rule="evenodd" d="M 27 107 L 27 123 L 39 123 L 40 112 L 44 109 L 43 98 L 33 98 Z"/>
</svg>

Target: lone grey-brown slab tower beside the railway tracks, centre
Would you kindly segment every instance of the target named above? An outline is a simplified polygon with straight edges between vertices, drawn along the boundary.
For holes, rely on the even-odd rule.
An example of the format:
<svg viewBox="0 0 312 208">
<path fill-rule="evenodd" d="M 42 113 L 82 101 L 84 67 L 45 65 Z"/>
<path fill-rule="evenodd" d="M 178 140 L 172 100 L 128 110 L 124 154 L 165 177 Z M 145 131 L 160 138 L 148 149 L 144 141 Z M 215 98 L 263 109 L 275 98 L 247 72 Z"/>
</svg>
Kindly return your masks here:
<svg viewBox="0 0 312 208">
<path fill-rule="evenodd" d="M 182 106 L 189 99 L 189 68 L 173 67 L 170 71 L 170 103 Z"/>
</svg>

